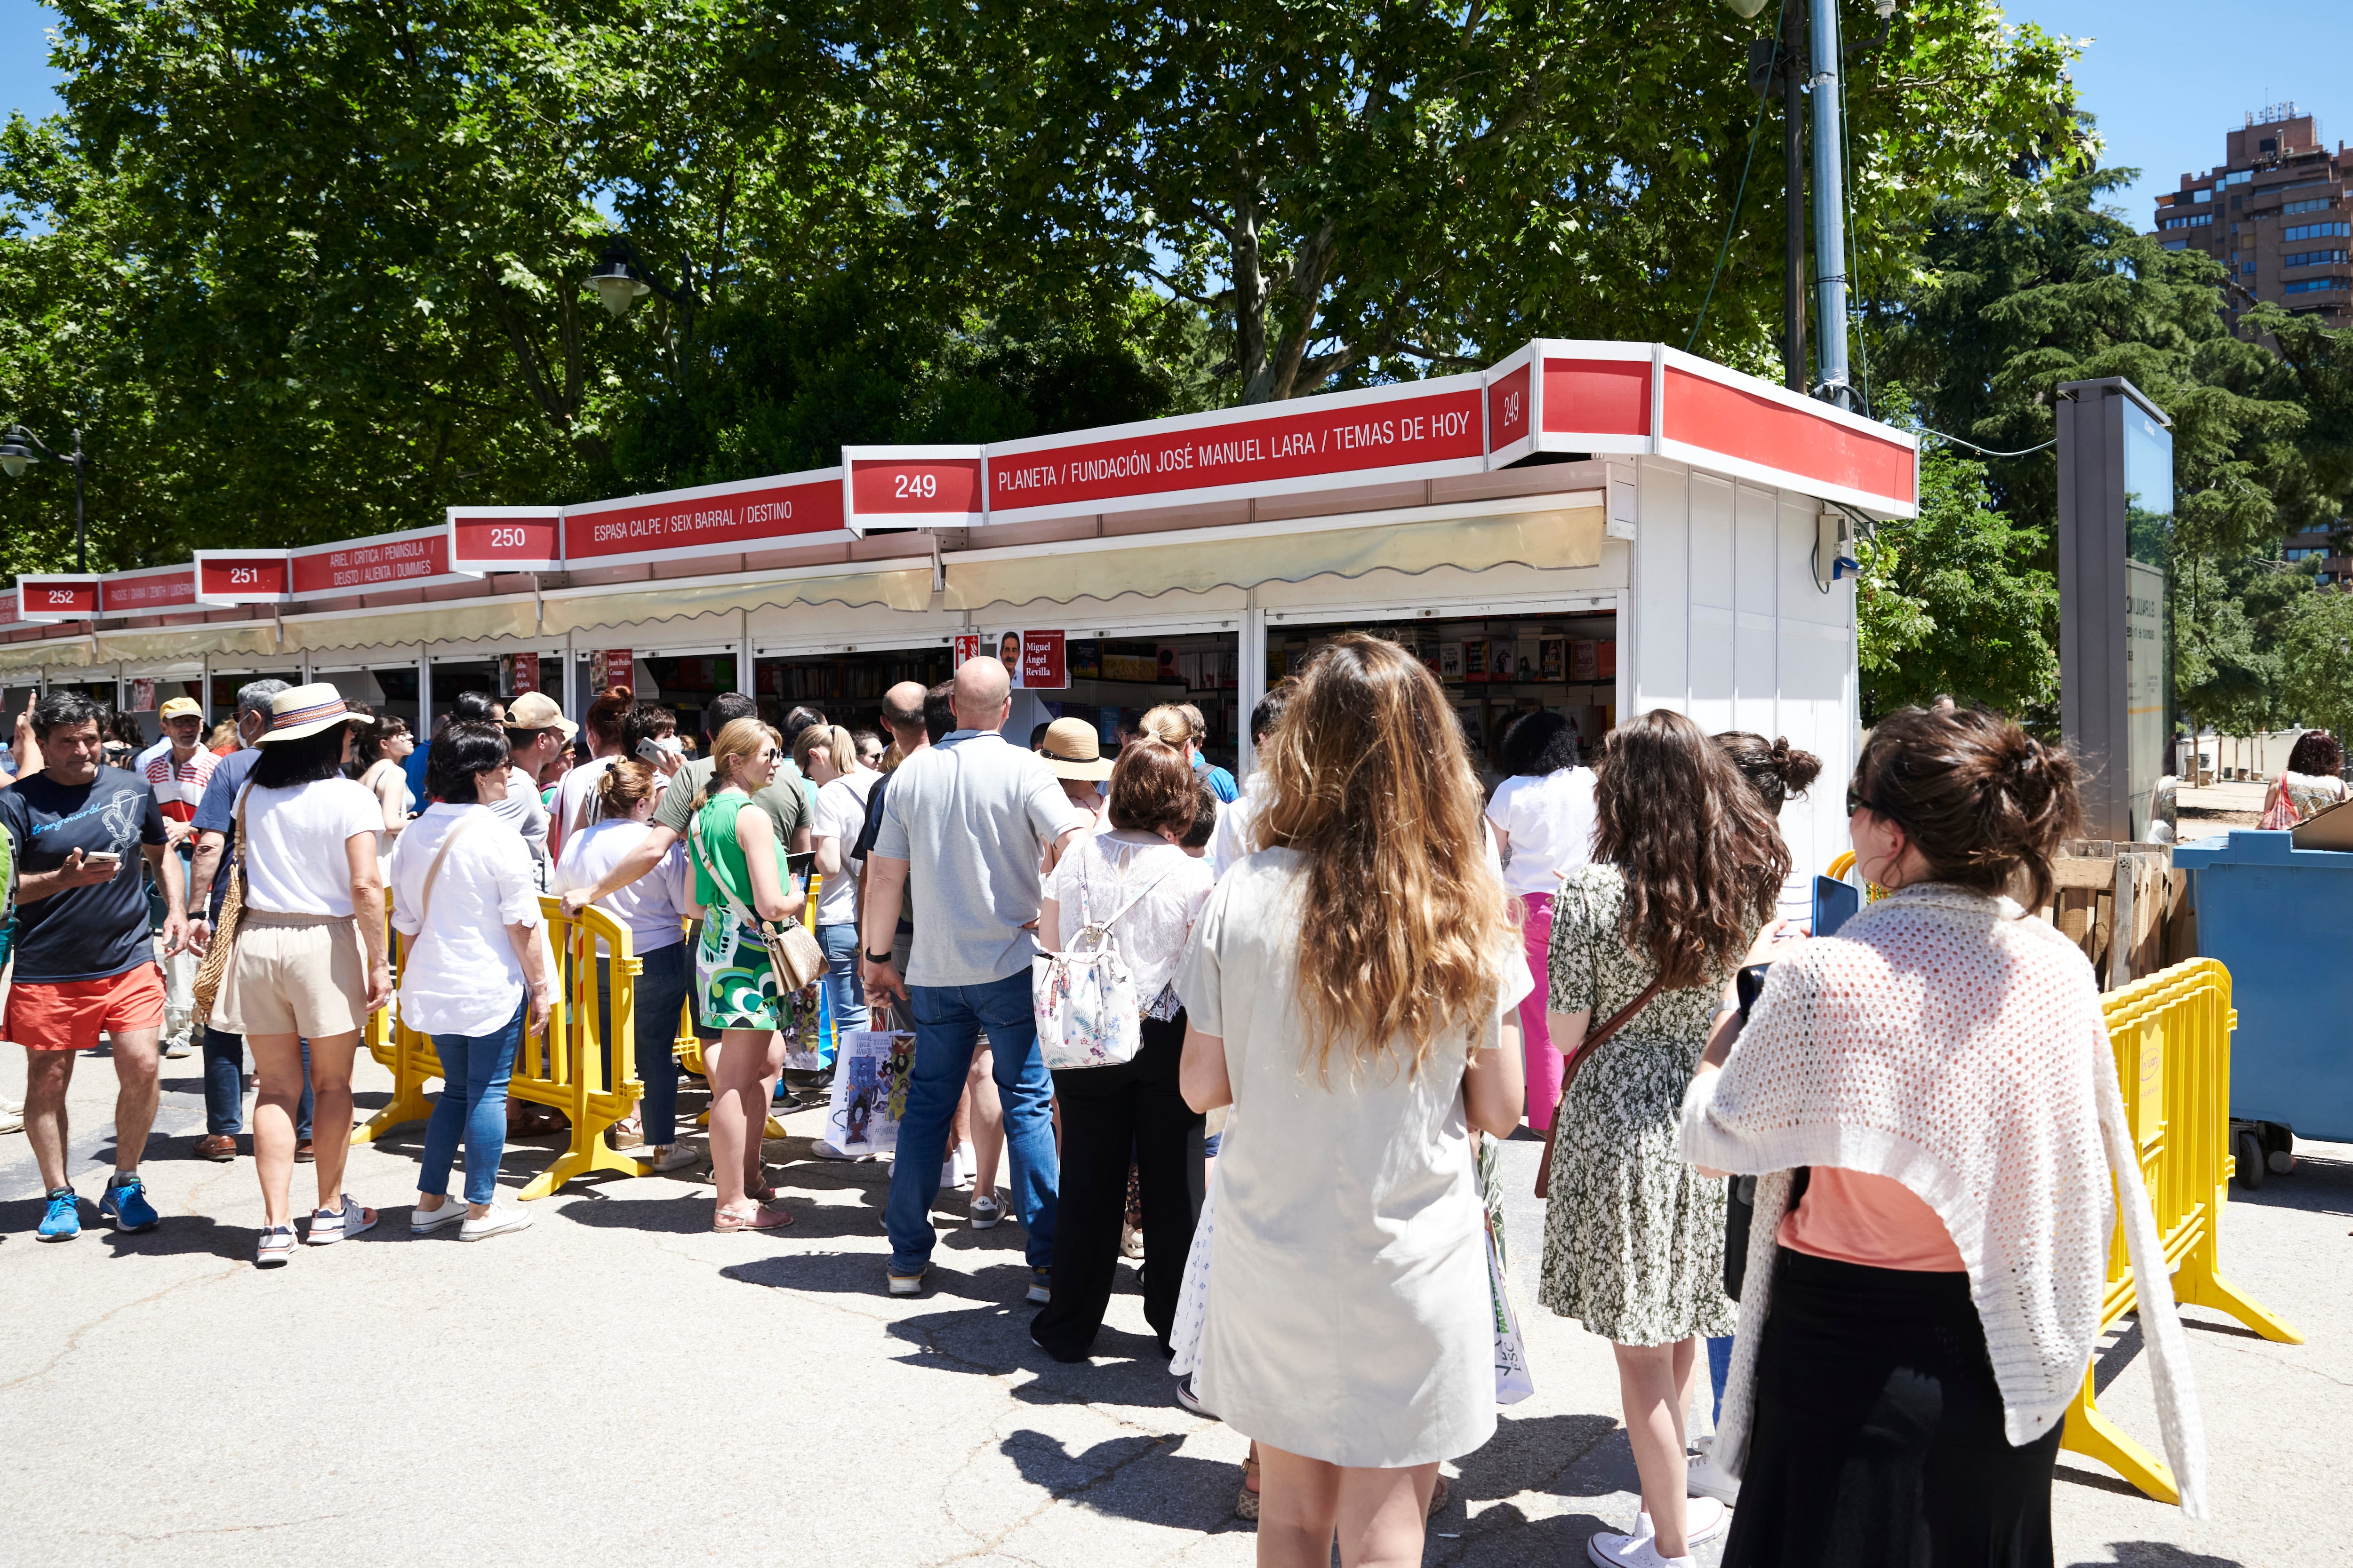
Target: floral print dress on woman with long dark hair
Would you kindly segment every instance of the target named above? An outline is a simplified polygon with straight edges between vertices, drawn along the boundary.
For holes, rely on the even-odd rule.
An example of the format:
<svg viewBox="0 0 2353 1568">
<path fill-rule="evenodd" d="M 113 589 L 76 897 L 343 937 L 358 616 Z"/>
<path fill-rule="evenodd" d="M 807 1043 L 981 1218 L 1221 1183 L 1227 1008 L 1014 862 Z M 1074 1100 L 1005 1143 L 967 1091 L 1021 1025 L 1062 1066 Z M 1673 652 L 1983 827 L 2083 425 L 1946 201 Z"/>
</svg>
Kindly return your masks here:
<svg viewBox="0 0 2353 1568">
<path fill-rule="evenodd" d="M 1600 1027 L 1649 985 L 1619 940 L 1624 872 L 1584 865 L 1553 900 L 1553 1011 Z M 1729 969 L 1661 990 L 1577 1074 L 1553 1131 L 1537 1300 L 1617 1345 L 1732 1333 L 1725 1182 L 1678 1154 L 1682 1091 L 1715 1025 Z"/>
</svg>

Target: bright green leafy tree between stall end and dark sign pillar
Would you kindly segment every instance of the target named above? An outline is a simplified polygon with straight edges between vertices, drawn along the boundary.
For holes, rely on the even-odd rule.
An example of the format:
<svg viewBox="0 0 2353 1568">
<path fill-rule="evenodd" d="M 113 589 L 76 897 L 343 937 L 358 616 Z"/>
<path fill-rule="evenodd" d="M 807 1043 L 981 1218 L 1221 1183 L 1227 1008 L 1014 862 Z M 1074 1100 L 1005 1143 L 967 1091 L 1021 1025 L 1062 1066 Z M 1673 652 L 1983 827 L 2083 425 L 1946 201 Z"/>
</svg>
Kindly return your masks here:
<svg viewBox="0 0 2353 1568">
<path fill-rule="evenodd" d="M 1857 541 L 1864 722 L 1946 693 L 2042 717 L 2059 693 L 2059 585 L 2042 538 L 1993 508 L 1986 465 L 1929 442 L 1920 517 Z"/>
</svg>

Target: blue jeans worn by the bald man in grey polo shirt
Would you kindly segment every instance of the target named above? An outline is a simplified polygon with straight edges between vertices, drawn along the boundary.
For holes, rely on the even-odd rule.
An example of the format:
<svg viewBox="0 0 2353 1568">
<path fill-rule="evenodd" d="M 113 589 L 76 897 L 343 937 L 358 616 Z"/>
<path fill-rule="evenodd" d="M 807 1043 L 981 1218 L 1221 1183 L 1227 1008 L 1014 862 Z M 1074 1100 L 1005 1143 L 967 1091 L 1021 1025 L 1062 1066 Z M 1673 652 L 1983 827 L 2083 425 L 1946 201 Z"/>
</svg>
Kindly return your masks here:
<svg viewBox="0 0 2353 1568">
<path fill-rule="evenodd" d="M 1038 1016 L 1031 1011 L 1028 966 L 988 985 L 913 985 L 915 1072 L 899 1119 L 899 1152 L 889 1168 L 889 1265 L 913 1274 L 932 1258 L 932 1199 L 939 1161 L 948 1157 L 948 1124 L 972 1072 L 972 1048 L 988 1032 L 993 1077 L 1005 1100 L 1005 1150 L 1012 1157 L 1014 1213 L 1028 1229 L 1028 1265 L 1054 1262 L 1054 1079 L 1038 1056 Z"/>
</svg>

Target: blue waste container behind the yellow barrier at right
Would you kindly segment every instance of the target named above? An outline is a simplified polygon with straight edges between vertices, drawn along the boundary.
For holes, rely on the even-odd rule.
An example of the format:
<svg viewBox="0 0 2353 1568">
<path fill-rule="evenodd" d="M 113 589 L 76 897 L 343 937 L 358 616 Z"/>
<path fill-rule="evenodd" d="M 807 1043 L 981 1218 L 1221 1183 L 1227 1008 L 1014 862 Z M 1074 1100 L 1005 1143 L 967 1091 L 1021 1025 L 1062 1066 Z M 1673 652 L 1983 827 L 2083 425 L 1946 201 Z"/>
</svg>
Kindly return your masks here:
<svg viewBox="0 0 2353 1568">
<path fill-rule="evenodd" d="M 2257 1124 L 2266 1154 L 2287 1147 L 2275 1131 L 2353 1143 L 2353 853 L 2233 827 L 2174 846 L 2174 865 L 2198 952 L 2231 971 L 2231 1121 Z"/>
</svg>

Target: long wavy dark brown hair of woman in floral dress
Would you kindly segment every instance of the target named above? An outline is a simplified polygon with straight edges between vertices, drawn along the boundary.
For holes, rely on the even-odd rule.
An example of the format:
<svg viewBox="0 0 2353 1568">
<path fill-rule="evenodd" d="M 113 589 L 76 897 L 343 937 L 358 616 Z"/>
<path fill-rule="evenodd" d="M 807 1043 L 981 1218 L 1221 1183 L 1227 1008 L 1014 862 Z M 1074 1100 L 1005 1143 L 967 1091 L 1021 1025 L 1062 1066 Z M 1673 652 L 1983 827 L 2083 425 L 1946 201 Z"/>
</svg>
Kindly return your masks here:
<svg viewBox="0 0 2353 1568">
<path fill-rule="evenodd" d="M 1781 827 L 1699 724 L 1654 708 L 1602 741 L 1593 858 L 1626 872 L 1619 936 L 1666 990 L 1729 969 L 1788 877 Z"/>
</svg>

